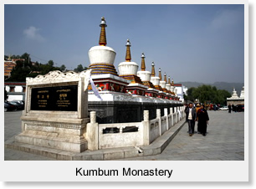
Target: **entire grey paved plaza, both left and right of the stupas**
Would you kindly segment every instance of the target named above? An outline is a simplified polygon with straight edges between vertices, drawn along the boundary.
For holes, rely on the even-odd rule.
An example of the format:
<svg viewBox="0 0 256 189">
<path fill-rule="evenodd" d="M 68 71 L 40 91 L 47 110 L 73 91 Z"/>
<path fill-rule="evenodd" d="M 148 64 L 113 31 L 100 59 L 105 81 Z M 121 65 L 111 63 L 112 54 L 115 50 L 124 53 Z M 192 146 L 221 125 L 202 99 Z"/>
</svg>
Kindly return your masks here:
<svg viewBox="0 0 256 189">
<path fill-rule="evenodd" d="M 21 132 L 22 111 L 4 113 L 4 141 Z M 244 113 L 208 111 L 207 136 L 187 133 L 187 123 L 161 154 L 121 159 L 125 161 L 243 161 Z M 197 123 L 196 129 L 197 130 Z M 6 161 L 54 161 L 55 159 L 5 148 Z"/>
</svg>

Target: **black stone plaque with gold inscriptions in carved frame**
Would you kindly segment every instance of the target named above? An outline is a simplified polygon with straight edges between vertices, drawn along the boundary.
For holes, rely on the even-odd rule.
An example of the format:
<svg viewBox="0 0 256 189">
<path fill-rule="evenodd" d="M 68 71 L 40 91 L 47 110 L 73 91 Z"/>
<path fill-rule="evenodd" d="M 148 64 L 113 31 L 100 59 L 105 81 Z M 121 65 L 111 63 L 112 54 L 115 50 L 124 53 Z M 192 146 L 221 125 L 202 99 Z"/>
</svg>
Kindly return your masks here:
<svg viewBox="0 0 256 189">
<path fill-rule="evenodd" d="M 30 110 L 77 111 L 78 86 L 33 88 Z"/>
</svg>

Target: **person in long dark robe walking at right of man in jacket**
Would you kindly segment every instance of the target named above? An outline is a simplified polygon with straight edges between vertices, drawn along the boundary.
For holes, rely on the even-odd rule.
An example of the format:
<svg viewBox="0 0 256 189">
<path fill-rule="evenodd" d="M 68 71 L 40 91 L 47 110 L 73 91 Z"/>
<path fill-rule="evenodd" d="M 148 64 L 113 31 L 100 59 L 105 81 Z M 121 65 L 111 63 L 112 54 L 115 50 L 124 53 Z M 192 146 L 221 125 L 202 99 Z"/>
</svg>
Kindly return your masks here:
<svg viewBox="0 0 256 189">
<path fill-rule="evenodd" d="M 207 110 L 204 109 L 204 105 L 201 105 L 201 109 L 197 111 L 197 118 L 200 132 L 202 135 L 205 136 L 207 134 L 207 123 L 209 120 L 209 116 L 207 114 Z"/>
</svg>

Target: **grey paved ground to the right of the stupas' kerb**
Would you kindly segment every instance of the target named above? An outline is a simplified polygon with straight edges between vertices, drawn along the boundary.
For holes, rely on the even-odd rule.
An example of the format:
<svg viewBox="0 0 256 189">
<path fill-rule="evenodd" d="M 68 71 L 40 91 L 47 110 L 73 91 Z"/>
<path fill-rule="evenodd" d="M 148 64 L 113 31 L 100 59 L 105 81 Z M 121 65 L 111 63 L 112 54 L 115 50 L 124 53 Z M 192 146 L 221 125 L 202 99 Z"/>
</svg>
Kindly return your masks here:
<svg viewBox="0 0 256 189">
<path fill-rule="evenodd" d="M 160 155 L 145 158 L 159 161 L 243 161 L 244 114 L 227 114 L 226 111 L 208 111 L 208 114 L 210 126 L 206 136 L 189 136 L 186 124 Z"/>
</svg>

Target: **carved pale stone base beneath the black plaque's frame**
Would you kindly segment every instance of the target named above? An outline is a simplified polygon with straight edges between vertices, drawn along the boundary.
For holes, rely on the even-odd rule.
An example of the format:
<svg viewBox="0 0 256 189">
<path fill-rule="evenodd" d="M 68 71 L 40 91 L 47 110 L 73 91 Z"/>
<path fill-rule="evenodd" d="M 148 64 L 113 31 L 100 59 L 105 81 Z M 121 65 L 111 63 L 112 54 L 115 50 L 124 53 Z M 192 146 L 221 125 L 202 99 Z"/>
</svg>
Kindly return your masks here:
<svg viewBox="0 0 256 189">
<path fill-rule="evenodd" d="M 88 148 L 84 135 L 89 119 L 80 119 L 80 123 L 77 123 L 78 119 L 55 122 L 22 116 L 21 120 L 23 132 L 15 136 L 16 142 L 74 152 Z"/>
</svg>

